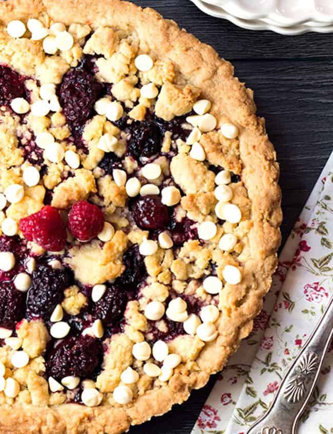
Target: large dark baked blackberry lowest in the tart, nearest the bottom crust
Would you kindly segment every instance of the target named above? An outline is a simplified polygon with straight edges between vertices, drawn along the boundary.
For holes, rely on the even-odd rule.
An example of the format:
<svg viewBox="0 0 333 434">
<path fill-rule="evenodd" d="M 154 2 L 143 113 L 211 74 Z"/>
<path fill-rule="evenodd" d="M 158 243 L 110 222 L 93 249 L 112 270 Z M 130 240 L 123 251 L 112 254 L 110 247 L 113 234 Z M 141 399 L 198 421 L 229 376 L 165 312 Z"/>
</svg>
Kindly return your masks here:
<svg viewBox="0 0 333 434">
<path fill-rule="evenodd" d="M 101 357 L 98 339 L 89 335 L 67 337 L 50 352 L 47 373 L 58 381 L 69 375 L 91 378 Z"/>
</svg>

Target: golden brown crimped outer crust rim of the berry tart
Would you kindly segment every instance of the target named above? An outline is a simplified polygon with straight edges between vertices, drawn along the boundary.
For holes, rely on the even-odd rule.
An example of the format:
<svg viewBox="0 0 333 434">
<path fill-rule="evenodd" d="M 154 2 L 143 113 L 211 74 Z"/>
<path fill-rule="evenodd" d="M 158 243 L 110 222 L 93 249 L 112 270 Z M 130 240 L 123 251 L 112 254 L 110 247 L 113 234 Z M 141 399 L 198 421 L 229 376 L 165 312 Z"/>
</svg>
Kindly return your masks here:
<svg viewBox="0 0 333 434">
<path fill-rule="evenodd" d="M 169 382 L 145 390 L 127 405 L 110 404 L 89 408 L 77 404 L 33 406 L 15 402 L 1 406 L 0 431 L 3 434 L 116 434 L 131 424 L 139 424 L 152 416 L 169 411 L 173 404 L 188 399 L 192 389 L 205 385 L 209 375 L 223 368 L 228 357 L 238 348 L 242 338 L 252 330 L 253 318 L 259 313 L 262 298 L 270 287 L 276 268 L 276 252 L 280 243 L 281 194 L 278 186 L 279 166 L 262 118 L 256 116 L 253 93 L 234 77 L 233 66 L 221 60 L 216 51 L 202 44 L 170 20 L 164 20 L 152 9 L 136 7 L 118 0 L 8 0 L 1 2 L 4 24 L 11 20 L 27 22 L 28 18 L 47 14 L 51 21 L 89 24 L 92 29 L 111 26 L 139 41 L 142 52 L 153 59 L 172 61 L 174 82 L 200 89 L 200 98 L 212 103 L 211 113 L 218 119 L 235 123 L 239 130 L 239 156 L 223 161 L 223 144 L 212 136 L 202 143 L 207 159 L 238 173 L 246 188 L 248 226 L 246 228 L 246 260 L 242 263 L 243 279 L 238 285 L 222 291 L 223 314 L 219 335 L 206 343 L 193 362 L 179 365 Z M 0 59 L 3 47 L 0 47 Z M 191 97 L 189 97 L 191 98 Z M 193 213 L 210 212 L 209 199 L 199 205 L 186 196 L 182 203 Z M 202 211 L 204 213 L 204 211 Z M 241 303 L 240 303 L 241 301 Z"/>
</svg>

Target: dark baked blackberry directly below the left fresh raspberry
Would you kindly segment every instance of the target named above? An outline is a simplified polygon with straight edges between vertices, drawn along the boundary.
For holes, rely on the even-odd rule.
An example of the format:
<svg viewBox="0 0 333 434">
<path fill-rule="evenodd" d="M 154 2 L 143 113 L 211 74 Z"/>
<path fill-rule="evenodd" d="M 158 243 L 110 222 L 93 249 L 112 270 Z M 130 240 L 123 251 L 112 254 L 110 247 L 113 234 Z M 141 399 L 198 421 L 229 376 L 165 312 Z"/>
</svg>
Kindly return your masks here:
<svg viewBox="0 0 333 434">
<path fill-rule="evenodd" d="M 64 290 L 71 284 L 68 270 L 38 265 L 32 273 L 32 286 L 27 297 L 27 316 L 50 319 L 54 308 L 64 298 Z"/>
</svg>

